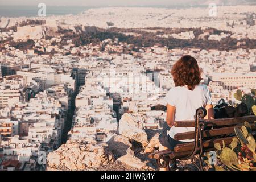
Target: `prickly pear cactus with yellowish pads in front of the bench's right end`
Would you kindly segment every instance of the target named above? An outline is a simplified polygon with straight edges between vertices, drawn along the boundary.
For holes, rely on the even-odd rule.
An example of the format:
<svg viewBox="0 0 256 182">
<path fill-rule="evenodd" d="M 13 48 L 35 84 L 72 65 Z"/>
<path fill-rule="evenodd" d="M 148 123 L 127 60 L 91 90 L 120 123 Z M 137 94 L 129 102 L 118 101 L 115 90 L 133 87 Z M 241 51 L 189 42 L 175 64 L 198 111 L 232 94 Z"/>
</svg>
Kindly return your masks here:
<svg viewBox="0 0 256 182">
<path fill-rule="evenodd" d="M 237 137 L 232 139 L 230 146 L 225 146 L 225 143 L 215 143 L 219 155 L 217 158 L 221 160 L 224 167 L 216 166 L 217 171 L 256 171 L 256 142 L 251 134 L 251 125 L 245 122 L 241 130 L 235 128 Z"/>
</svg>

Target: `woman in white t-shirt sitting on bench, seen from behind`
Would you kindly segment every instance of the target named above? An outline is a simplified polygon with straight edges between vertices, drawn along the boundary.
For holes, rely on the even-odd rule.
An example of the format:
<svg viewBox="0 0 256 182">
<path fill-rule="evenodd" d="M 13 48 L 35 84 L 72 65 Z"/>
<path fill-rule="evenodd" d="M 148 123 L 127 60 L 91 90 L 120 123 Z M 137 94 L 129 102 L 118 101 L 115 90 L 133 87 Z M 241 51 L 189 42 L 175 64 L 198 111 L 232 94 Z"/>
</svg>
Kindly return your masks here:
<svg viewBox="0 0 256 182">
<path fill-rule="evenodd" d="M 205 119 L 214 119 L 212 96 L 206 85 L 200 85 L 201 74 L 196 59 L 188 55 L 181 57 L 172 67 L 171 73 L 175 87 L 170 89 L 164 98 L 164 105 L 167 106 L 167 118 L 159 136 L 159 151 L 174 150 L 177 144 L 193 141 L 173 139 L 177 133 L 195 130 L 194 127 L 176 128 L 174 121 L 195 119 L 196 109 L 199 107 L 205 107 L 207 110 Z"/>
</svg>

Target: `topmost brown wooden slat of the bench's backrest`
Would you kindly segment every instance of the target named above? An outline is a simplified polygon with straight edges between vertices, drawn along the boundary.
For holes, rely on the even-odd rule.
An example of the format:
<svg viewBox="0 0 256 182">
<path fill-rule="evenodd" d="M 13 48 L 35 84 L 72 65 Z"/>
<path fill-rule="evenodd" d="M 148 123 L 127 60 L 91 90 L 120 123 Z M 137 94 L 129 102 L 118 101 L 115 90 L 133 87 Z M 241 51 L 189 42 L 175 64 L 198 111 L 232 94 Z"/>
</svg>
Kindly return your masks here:
<svg viewBox="0 0 256 182">
<path fill-rule="evenodd" d="M 256 121 L 256 115 L 250 115 L 240 118 L 224 118 L 224 119 L 208 119 L 204 120 L 205 126 L 226 126 L 226 125 L 237 125 L 243 122 L 253 123 Z M 195 121 L 175 121 L 175 127 L 195 127 Z"/>
</svg>

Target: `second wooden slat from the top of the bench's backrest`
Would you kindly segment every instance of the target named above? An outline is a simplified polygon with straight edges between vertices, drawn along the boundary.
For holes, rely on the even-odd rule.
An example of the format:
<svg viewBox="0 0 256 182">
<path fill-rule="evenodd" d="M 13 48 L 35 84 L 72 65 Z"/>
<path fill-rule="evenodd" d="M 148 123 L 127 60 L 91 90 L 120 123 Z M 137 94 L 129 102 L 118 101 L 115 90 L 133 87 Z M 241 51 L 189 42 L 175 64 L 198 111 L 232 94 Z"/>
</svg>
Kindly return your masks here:
<svg viewBox="0 0 256 182">
<path fill-rule="evenodd" d="M 218 135 L 234 134 L 234 127 L 236 126 L 222 127 L 220 129 L 204 130 L 203 137 L 216 137 Z M 241 126 L 237 126 L 237 127 L 241 129 Z M 251 124 L 251 128 L 255 129 L 255 125 Z M 195 137 L 195 131 L 177 133 L 176 135 L 174 135 L 175 140 L 194 139 L 194 137 Z"/>
</svg>

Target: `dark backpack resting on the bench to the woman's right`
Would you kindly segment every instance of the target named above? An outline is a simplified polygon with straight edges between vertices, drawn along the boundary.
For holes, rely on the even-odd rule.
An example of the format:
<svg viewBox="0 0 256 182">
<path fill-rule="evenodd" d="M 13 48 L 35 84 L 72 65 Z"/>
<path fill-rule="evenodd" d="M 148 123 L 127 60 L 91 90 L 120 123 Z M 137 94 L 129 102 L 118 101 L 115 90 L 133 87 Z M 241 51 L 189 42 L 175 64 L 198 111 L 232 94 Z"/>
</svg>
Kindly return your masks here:
<svg viewBox="0 0 256 182">
<path fill-rule="evenodd" d="M 245 103 L 242 102 L 235 108 L 226 104 L 223 98 L 218 101 L 218 105 L 214 107 L 215 119 L 243 117 L 247 115 L 247 113 L 248 108 Z"/>
</svg>

